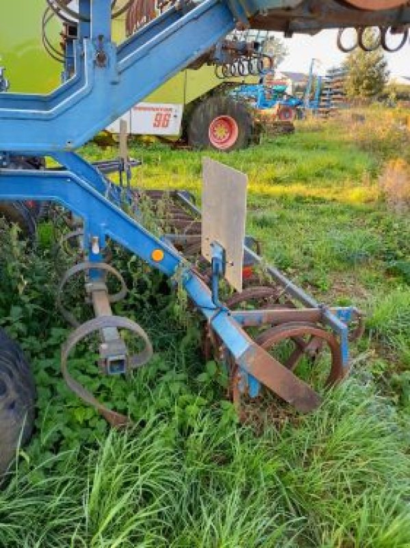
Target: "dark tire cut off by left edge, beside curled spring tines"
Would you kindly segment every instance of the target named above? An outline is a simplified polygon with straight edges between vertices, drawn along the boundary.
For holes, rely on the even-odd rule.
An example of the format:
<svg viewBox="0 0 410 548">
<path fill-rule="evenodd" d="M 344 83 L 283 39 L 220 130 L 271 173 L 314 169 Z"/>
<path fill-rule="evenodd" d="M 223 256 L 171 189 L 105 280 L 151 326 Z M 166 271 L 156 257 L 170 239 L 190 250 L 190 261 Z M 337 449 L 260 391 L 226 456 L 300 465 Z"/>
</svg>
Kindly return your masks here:
<svg viewBox="0 0 410 548">
<path fill-rule="evenodd" d="M 34 424 L 34 377 L 21 348 L 0 329 L 0 477 Z"/>
</svg>

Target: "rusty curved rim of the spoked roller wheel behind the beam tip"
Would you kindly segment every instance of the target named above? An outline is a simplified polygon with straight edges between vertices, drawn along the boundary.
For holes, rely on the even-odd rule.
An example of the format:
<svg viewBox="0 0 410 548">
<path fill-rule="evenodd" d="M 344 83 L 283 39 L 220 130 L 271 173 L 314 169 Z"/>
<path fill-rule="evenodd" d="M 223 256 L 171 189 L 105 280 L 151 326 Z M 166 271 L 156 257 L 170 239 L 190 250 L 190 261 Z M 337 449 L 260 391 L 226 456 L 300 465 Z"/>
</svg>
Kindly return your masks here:
<svg viewBox="0 0 410 548">
<path fill-rule="evenodd" d="M 329 349 L 331 350 L 331 371 L 329 373 L 329 377 L 326 379 L 326 386 L 332 386 L 342 380 L 345 376 L 345 371 L 342 364 L 342 353 L 340 351 L 339 342 L 333 334 L 324 331 L 324 329 L 320 329 L 320 327 L 317 327 L 315 324 L 303 322 L 284 323 L 282 325 L 271 327 L 266 332 L 262 333 L 256 339 L 256 342 L 262 348 L 269 350 L 274 347 L 274 345 L 277 345 L 277 343 L 281 343 L 283 340 L 307 335 L 312 337 L 309 343 L 307 343 L 307 347 L 309 347 L 309 344 L 313 343 L 313 341 L 313 344 L 316 345 L 316 339 L 320 339 L 327 343 Z M 305 347 L 305 349 L 307 347 Z M 305 349 L 300 350 L 305 353 Z"/>
</svg>

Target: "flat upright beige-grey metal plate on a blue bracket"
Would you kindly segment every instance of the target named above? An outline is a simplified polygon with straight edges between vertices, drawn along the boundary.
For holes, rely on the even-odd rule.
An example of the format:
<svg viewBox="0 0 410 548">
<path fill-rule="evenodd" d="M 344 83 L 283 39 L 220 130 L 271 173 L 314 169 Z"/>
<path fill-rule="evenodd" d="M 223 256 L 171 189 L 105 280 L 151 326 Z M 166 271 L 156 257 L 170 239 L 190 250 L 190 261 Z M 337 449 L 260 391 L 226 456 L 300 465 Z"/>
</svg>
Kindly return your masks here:
<svg viewBox="0 0 410 548">
<path fill-rule="evenodd" d="M 225 278 L 242 291 L 242 263 L 248 177 L 231 167 L 203 158 L 202 255 L 209 262 L 211 244 L 225 249 Z"/>
</svg>

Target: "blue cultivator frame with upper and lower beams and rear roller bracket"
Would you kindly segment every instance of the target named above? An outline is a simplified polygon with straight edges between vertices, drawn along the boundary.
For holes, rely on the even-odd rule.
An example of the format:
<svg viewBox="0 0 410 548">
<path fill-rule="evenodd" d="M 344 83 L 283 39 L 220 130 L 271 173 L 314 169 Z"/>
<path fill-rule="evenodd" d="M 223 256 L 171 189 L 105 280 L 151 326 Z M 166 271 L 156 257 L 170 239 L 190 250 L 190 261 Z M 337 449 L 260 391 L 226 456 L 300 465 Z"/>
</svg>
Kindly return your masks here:
<svg viewBox="0 0 410 548">
<path fill-rule="evenodd" d="M 94 282 L 99 280 L 97 265 L 102 261 L 107 238 L 168 276 L 181 271 L 185 290 L 207 319 L 209 329 L 221 341 L 227 360 L 235 364 L 239 390 L 255 397 L 263 384 L 302 412 L 316 408 L 319 396 L 290 368 L 274 359 L 263 345 L 255 343 L 244 327 L 264 323 L 278 325 L 281 314 L 287 321 L 292 316 L 292 334 L 297 339 L 299 318 L 320 321 L 333 331 L 332 337 L 337 341 L 337 347 L 333 345 L 337 371 L 330 379 L 334 382 L 348 369 L 346 322 L 355 310 L 329 310 L 320 306 L 275 269 L 269 269 L 272 278 L 307 309 L 295 309 L 292 314 L 275 309 L 231 312 L 220 306 L 196 270 L 172 245 L 155 238 L 120 209 L 121 189 L 110 184 L 98 167 L 82 160 L 74 150 L 166 79 L 200 58 L 236 23 L 246 25 L 248 16 L 257 21 L 259 12 L 269 11 L 274 15 L 278 10 L 283 17 L 284 8 L 290 10 L 295 4 L 305 3 L 274 0 L 187 3 L 182 0 L 116 47 L 111 40 L 111 0 L 79 0 L 79 10 L 90 14 L 90 23 L 79 23 L 78 39 L 73 42 L 74 62 L 66 66 L 66 74 L 71 75 L 73 71 L 73 75 L 50 95 L 0 92 L 0 151 L 3 151 L 0 200 L 54 201 L 80 217 L 84 222 L 84 253 L 89 262 L 96 264 L 94 274 L 90 275 Z M 329 8 L 338 13 L 339 3 L 322 4 L 322 16 Z M 308 28 L 311 14 L 305 12 L 305 6 L 300 8 L 297 24 L 302 25 L 306 16 Z M 355 13 L 359 21 L 360 10 L 346 8 L 344 12 L 344 24 L 355 21 Z M 379 13 L 383 22 L 410 21 L 407 9 Z M 324 21 L 320 23 L 323 27 Z M 372 16 L 372 24 L 374 21 L 376 18 Z M 270 26 L 275 29 L 274 23 Z M 329 20 L 328 26 L 334 26 L 334 21 Z M 12 155 L 52 157 L 62 167 L 44 171 L 8 169 L 8 158 Z M 181 200 L 193 207 L 182 195 Z M 246 251 L 252 255 L 250 249 Z M 100 312 L 107 310 L 100 305 L 101 302 L 94 308 L 100 307 Z M 315 332 L 311 334 L 315 336 Z"/>
</svg>

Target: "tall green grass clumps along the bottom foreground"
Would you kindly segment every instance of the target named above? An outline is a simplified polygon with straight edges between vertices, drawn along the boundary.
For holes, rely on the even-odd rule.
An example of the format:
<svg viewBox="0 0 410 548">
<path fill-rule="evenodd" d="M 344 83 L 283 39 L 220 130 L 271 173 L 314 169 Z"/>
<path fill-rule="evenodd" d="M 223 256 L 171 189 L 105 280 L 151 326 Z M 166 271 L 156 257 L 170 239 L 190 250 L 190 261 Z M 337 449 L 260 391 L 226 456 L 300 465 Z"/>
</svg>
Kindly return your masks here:
<svg viewBox="0 0 410 548">
<path fill-rule="evenodd" d="M 212 410 L 188 435 L 156 416 L 17 470 L 0 493 L 0 545 L 408 547 L 410 458 L 386 409 L 352 380 L 259 438 Z"/>
</svg>

